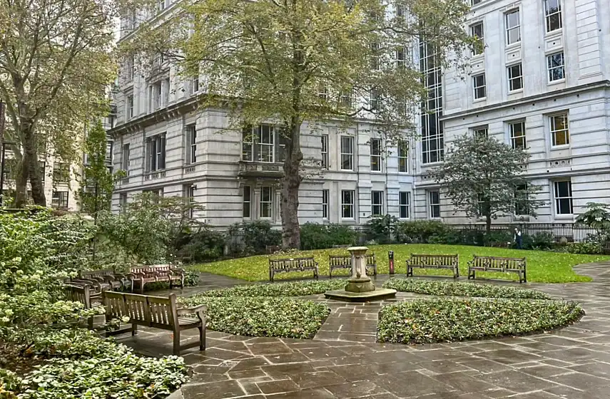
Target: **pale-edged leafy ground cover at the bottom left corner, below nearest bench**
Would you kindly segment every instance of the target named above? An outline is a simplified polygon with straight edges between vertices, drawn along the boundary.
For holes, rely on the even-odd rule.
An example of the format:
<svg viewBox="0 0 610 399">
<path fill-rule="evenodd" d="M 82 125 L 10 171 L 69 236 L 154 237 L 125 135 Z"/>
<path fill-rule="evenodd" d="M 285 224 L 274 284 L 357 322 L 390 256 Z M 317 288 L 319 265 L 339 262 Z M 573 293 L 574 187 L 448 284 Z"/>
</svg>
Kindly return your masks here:
<svg viewBox="0 0 610 399">
<path fill-rule="evenodd" d="M 186 380 L 182 358 L 144 358 L 117 345 L 95 358 L 52 359 L 24 378 L 19 398 L 162 398 Z"/>
</svg>

